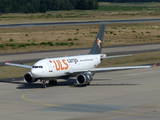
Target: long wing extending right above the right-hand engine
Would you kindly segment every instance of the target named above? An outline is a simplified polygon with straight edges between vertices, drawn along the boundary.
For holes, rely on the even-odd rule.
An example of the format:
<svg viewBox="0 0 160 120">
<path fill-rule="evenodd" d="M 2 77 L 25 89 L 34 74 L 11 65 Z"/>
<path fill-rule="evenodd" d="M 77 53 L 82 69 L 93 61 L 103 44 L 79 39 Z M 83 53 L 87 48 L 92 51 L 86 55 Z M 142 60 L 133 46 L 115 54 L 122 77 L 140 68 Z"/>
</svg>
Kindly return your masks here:
<svg viewBox="0 0 160 120">
<path fill-rule="evenodd" d="M 138 69 L 138 68 L 149 68 L 152 66 L 126 66 L 126 67 L 107 67 L 107 68 L 91 68 L 91 69 L 81 69 L 72 70 L 69 73 L 81 73 L 81 72 L 98 72 L 98 71 L 111 71 L 111 70 L 125 70 L 125 69 Z"/>
</svg>

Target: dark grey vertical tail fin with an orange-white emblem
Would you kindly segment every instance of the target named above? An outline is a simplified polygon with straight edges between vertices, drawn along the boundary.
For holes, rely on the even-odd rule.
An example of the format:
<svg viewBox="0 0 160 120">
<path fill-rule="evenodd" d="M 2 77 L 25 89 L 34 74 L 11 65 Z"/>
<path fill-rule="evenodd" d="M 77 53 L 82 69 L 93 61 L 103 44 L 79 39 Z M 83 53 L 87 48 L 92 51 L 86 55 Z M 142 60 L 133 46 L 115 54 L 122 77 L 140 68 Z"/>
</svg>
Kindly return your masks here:
<svg viewBox="0 0 160 120">
<path fill-rule="evenodd" d="M 100 26 L 96 40 L 94 41 L 93 47 L 92 47 L 91 51 L 89 52 L 89 54 L 100 54 L 101 53 L 104 31 L 105 31 L 105 24 L 102 24 Z"/>
</svg>

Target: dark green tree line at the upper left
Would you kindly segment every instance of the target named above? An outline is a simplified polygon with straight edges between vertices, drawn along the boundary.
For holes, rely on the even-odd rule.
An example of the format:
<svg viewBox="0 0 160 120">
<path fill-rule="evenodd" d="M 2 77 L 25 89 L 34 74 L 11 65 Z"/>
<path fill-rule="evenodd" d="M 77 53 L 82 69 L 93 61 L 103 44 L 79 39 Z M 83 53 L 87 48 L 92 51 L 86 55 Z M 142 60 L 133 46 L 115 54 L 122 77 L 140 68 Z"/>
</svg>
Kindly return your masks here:
<svg viewBox="0 0 160 120">
<path fill-rule="evenodd" d="M 0 13 L 98 9 L 97 0 L 0 0 Z"/>
</svg>

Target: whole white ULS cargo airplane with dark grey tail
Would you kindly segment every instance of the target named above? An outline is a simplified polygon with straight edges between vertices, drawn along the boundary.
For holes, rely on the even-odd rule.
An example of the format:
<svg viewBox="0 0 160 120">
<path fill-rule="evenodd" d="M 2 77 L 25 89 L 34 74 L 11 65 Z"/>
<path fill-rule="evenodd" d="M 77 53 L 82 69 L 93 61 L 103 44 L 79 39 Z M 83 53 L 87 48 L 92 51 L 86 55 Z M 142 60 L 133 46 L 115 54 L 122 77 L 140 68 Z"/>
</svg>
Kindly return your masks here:
<svg viewBox="0 0 160 120">
<path fill-rule="evenodd" d="M 76 82 L 79 85 L 89 85 L 93 80 L 93 75 L 98 71 L 110 71 L 121 69 L 136 69 L 148 68 L 151 66 L 125 66 L 125 67 L 106 67 L 96 68 L 103 59 L 123 57 L 130 55 L 106 56 L 101 53 L 105 24 L 100 26 L 100 30 L 94 41 L 93 47 L 86 55 L 65 56 L 58 58 L 46 58 L 39 60 L 33 66 L 24 64 L 15 64 L 6 62 L 6 65 L 28 68 L 30 72 L 24 75 L 24 81 L 34 83 L 38 80 L 42 82 L 42 88 L 46 87 L 46 81 L 50 85 L 57 84 L 57 79 L 69 79 L 76 77 Z"/>
</svg>

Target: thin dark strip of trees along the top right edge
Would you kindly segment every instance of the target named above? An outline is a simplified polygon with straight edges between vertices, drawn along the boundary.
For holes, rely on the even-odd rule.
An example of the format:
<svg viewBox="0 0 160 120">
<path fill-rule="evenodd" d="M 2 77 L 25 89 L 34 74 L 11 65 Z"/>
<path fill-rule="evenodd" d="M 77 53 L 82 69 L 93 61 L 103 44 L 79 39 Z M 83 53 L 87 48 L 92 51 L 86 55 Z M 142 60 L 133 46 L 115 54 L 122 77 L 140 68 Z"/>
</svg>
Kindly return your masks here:
<svg viewBox="0 0 160 120">
<path fill-rule="evenodd" d="M 135 3 L 135 2 L 160 2 L 160 0 L 97 0 L 98 2 Z"/>
</svg>

